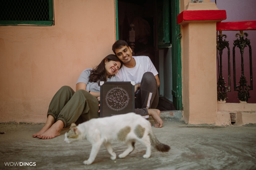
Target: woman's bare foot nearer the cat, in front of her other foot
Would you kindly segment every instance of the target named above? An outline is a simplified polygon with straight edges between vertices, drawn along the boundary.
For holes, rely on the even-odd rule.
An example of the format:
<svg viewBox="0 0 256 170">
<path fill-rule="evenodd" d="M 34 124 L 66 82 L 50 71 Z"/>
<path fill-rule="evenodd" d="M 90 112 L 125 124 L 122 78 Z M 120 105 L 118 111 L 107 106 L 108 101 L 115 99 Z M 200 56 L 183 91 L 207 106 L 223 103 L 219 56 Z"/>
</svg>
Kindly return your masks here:
<svg viewBox="0 0 256 170">
<path fill-rule="evenodd" d="M 41 139 L 52 139 L 60 135 L 61 129 L 64 127 L 64 123 L 61 120 L 57 120 L 45 133 L 40 136 L 37 136 Z"/>
</svg>

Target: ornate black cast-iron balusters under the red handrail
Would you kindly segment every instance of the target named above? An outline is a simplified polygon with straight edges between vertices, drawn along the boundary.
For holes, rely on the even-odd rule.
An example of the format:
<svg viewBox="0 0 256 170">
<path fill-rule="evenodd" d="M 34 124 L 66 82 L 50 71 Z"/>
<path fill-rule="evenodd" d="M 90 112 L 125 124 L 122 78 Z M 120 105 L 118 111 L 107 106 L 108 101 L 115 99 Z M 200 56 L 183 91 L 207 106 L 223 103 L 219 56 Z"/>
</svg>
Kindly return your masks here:
<svg viewBox="0 0 256 170">
<path fill-rule="evenodd" d="M 256 21 L 255 21 L 256 22 Z M 224 30 L 224 29 L 223 29 Z M 227 29 L 226 29 L 227 30 Z M 252 77 L 252 49 L 250 45 L 250 40 L 247 38 L 248 34 L 244 33 L 243 30 L 239 30 L 240 33 L 235 34 L 235 37 L 238 37 L 236 40 L 234 40 L 233 43 L 233 82 L 234 82 L 234 91 L 238 91 L 237 98 L 240 101 L 248 101 L 250 98 L 250 90 L 253 90 L 253 77 Z M 244 37 L 246 37 L 244 39 Z M 225 38 L 223 40 L 223 38 Z M 217 82 L 217 99 L 218 101 L 225 101 L 228 99 L 228 92 L 231 91 L 231 72 L 230 72 L 230 48 L 229 48 L 229 42 L 226 41 L 227 35 L 222 34 L 222 31 L 217 31 L 217 60 L 218 60 L 218 71 L 219 71 L 219 77 Z M 246 79 L 246 76 L 244 74 L 244 49 L 245 47 L 249 47 L 249 67 L 250 67 L 250 85 L 248 85 L 248 81 Z M 241 55 L 241 77 L 240 81 L 238 82 L 239 85 L 237 85 L 236 82 L 236 47 L 240 49 L 240 55 Z M 228 87 L 225 86 L 226 82 L 222 75 L 222 54 L 223 50 L 227 49 L 228 52 Z"/>
</svg>

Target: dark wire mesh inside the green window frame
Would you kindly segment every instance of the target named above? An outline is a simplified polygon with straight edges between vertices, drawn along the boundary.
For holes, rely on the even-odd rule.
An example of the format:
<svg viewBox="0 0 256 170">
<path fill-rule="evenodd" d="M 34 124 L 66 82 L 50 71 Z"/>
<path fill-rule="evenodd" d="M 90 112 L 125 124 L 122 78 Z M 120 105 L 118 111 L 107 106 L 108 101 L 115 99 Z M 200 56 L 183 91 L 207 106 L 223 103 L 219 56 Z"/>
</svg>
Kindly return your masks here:
<svg viewBox="0 0 256 170">
<path fill-rule="evenodd" d="M 0 20 L 49 21 L 49 0 L 1 0 Z"/>
</svg>

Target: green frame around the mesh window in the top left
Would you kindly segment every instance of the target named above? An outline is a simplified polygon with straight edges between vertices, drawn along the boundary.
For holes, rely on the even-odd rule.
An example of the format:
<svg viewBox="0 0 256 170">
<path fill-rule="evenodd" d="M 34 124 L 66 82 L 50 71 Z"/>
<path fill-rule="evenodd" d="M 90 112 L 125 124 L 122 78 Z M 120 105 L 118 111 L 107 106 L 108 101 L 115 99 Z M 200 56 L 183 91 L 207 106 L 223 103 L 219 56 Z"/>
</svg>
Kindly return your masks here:
<svg viewBox="0 0 256 170">
<path fill-rule="evenodd" d="M 10 0 L 12 1 L 12 0 Z M 33 0 L 37 1 L 37 0 Z M 14 1 L 13 1 L 14 2 Z M 53 8 L 53 0 L 48 0 L 49 3 L 49 18 L 47 17 L 48 20 L 37 20 L 37 21 L 31 21 L 31 20 L 0 20 L 0 25 L 41 25 L 41 26 L 52 26 L 54 25 L 54 8 Z M 13 3 L 15 5 L 15 3 Z M 3 8 L 3 6 L 2 6 Z M 1 9 L 0 10 L 4 10 Z"/>
</svg>

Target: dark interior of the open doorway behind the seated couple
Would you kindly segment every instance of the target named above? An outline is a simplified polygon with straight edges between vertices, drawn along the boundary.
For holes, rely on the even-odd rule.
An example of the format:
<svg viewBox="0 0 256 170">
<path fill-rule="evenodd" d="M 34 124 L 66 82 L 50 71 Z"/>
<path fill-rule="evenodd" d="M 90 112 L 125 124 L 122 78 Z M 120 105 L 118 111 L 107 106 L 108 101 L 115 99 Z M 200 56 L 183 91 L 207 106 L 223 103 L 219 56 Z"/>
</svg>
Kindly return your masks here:
<svg viewBox="0 0 256 170">
<path fill-rule="evenodd" d="M 129 44 L 131 39 L 129 31 L 131 30 L 131 24 L 134 25 L 134 56 L 148 56 L 159 73 L 159 92 L 162 92 L 159 93 L 160 97 L 157 108 L 161 111 L 176 110 L 172 97 L 164 95 L 166 89 L 168 89 L 168 92 L 172 91 L 172 81 L 170 81 L 172 80 L 172 72 L 166 72 L 169 68 L 172 69 L 172 52 L 171 48 L 159 49 L 157 46 L 159 25 L 157 23 L 159 20 L 157 12 L 159 10 L 157 8 L 159 8 L 159 1 L 156 0 L 118 0 L 118 39 L 125 40 Z M 168 58 L 170 63 L 165 62 L 166 58 Z M 168 93 L 167 96 L 172 95 Z"/>
</svg>

